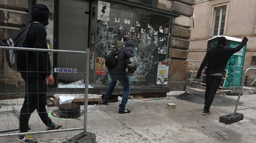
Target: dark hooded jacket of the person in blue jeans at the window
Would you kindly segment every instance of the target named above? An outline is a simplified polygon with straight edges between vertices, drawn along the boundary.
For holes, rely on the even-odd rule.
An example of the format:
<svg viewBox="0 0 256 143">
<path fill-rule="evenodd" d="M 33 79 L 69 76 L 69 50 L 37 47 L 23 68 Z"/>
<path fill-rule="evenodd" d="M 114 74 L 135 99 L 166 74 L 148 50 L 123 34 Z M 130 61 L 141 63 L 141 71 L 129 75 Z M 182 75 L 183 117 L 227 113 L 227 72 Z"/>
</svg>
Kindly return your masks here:
<svg viewBox="0 0 256 143">
<path fill-rule="evenodd" d="M 118 55 L 118 65 L 116 65 L 114 68 L 109 68 L 109 74 L 121 74 L 121 75 L 125 75 L 126 74 L 126 68 L 127 68 L 127 64 L 126 64 L 126 60 L 134 57 L 134 55 L 132 54 L 132 49 L 133 47 L 133 42 L 132 41 L 127 41 L 125 44 L 125 47 L 121 49 L 121 51 L 119 52 Z"/>
</svg>

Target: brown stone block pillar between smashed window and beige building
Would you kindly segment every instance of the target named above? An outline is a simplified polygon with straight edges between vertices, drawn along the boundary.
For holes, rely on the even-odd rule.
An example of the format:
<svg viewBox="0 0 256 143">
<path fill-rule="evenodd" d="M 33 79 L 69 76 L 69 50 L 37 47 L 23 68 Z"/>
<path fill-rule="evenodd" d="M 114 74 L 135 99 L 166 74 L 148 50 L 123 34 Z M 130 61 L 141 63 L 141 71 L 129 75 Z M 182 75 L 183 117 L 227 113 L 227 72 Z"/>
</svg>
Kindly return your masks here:
<svg viewBox="0 0 256 143">
<path fill-rule="evenodd" d="M 180 17 L 175 18 L 173 41 L 169 57 L 171 57 L 168 85 L 170 91 L 185 91 L 186 89 L 186 72 L 189 38 L 192 27 L 194 0 L 158 0 L 157 7 L 178 12 Z"/>
</svg>

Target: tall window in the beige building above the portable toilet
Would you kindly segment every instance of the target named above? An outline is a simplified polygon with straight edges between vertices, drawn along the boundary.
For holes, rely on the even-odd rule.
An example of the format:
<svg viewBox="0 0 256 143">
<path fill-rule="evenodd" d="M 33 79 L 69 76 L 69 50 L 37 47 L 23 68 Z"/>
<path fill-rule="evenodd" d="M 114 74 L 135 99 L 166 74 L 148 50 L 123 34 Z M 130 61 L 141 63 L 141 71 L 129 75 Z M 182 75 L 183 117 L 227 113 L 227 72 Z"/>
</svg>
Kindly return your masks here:
<svg viewBox="0 0 256 143">
<path fill-rule="evenodd" d="M 227 6 L 215 8 L 213 36 L 223 35 Z"/>
</svg>

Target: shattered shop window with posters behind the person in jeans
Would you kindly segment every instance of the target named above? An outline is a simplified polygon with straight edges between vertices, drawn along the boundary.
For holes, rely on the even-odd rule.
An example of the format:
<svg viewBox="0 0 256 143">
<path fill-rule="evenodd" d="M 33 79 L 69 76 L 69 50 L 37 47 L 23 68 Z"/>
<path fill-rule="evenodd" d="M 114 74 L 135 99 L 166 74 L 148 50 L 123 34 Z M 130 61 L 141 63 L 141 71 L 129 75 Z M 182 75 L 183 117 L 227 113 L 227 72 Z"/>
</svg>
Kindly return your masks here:
<svg viewBox="0 0 256 143">
<path fill-rule="evenodd" d="M 137 71 L 129 76 L 131 86 L 166 87 L 157 84 L 158 62 L 167 62 L 174 18 L 130 6 L 110 4 L 109 21 L 97 20 L 95 34 L 94 86 L 108 86 L 111 81 L 104 58 L 114 49 L 123 47 L 127 41 L 134 43 Z M 167 75 L 161 71 L 161 75 Z M 118 84 L 117 86 L 120 86 Z"/>
</svg>

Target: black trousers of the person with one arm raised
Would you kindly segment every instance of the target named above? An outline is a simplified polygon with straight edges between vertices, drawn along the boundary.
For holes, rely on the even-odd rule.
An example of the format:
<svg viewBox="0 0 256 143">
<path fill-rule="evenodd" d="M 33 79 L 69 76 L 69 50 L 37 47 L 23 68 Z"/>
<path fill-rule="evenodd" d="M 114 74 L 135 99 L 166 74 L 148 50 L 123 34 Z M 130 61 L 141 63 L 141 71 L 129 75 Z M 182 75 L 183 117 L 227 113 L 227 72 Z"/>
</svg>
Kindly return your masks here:
<svg viewBox="0 0 256 143">
<path fill-rule="evenodd" d="M 204 95 L 204 109 L 209 110 L 214 96 L 221 84 L 222 76 L 221 75 L 207 75 L 206 76 L 206 90 Z"/>
</svg>

